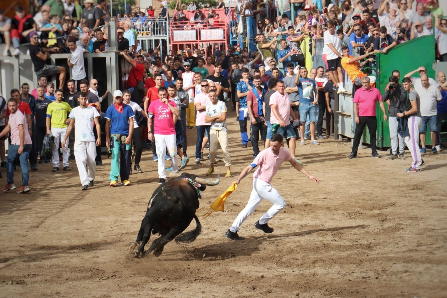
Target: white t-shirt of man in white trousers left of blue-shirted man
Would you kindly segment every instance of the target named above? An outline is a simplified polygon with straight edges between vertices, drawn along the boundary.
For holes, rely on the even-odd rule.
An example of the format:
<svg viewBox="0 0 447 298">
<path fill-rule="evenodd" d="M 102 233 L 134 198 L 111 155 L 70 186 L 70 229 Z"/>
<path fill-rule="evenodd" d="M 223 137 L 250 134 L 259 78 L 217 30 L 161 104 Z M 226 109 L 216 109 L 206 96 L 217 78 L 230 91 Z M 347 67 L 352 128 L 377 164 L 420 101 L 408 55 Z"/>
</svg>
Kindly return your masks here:
<svg viewBox="0 0 447 298">
<path fill-rule="evenodd" d="M 99 117 L 97 109 L 88 105 L 85 109 L 80 106 L 73 108 L 68 117 L 75 119 L 75 142 L 94 142 L 93 118 Z"/>
</svg>

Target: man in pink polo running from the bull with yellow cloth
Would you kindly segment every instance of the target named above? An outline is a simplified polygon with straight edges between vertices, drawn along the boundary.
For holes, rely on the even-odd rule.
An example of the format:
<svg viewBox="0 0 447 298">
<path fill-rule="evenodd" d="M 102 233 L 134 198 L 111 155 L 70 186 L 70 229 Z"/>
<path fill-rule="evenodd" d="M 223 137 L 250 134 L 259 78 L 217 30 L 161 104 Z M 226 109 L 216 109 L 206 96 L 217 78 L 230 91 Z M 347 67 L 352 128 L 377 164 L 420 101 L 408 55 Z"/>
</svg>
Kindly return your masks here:
<svg viewBox="0 0 447 298">
<path fill-rule="evenodd" d="M 242 170 L 239 178 L 233 181 L 233 184 L 239 184 L 240 180 L 247 176 L 254 168 L 259 166 L 253 174 L 253 190 L 250 194 L 249 202 L 247 203 L 247 206 L 240 211 L 232 226 L 228 229 L 227 233 L 225 233 L 226 237 L 232 240 L 243 239 L 237 234 L 237 232 L 239 232 L 239 227 L 242 222 L 256 210 L 262 199 L 267 199 L 274 205 L 261 216 L 254 226 L 257 229 L 264 231 L 264 233 L 273 232 L 273 228 L 269 227 L 267 222 L 286 206 L 286 201 L 284 201 L 283 197 L 281 197 L 278 191 L 274 189 L 270 183 L 283 161 L 288 161 L 295 169 L 302 172 L 304 175 L 308 176 L 309 179 L 314 180 L 318 184 L 318 179 L 309 174 L 298 162 L 296 162 L 289 151 L 282 147 L 282 145 L 283 136 L 281 134 L 274 134 L 270 141 L 270 148 L 261 151 L 253 162 Z"/>
</svg>

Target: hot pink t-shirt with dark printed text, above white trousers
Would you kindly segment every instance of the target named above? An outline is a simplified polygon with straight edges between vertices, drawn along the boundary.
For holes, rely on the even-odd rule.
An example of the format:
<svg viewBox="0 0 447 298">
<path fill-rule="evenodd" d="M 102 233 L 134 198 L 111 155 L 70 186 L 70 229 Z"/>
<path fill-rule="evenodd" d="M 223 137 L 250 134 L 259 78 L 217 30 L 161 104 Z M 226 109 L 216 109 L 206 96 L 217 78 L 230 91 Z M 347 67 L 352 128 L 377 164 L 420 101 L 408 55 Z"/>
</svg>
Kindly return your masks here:
<svg viewBox="0 0 447 298">
<path fill-rule="evenodd" d="M 173 107 L 177 107 L 173 101 L 168 101 Z M 154 114 L 154 134 L 175 134 L 174 118 L 171 109 L 160 100 L 152 101 L 148 108 L 149 113 Z"/>
</svg>

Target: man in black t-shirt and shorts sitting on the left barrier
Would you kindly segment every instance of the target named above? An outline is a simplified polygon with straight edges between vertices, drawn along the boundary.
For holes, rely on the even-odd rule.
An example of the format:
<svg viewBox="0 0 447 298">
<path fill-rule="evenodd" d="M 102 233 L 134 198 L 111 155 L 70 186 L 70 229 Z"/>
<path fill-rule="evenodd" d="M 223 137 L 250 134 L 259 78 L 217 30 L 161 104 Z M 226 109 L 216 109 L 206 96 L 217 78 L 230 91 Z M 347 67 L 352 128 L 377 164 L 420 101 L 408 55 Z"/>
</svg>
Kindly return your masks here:
<svg viewBox="0 0 447 298">
<path fill-rule="evenodd" d="M 34 73 L 37 77 L 45 75 L 47 77 L 59 74 L 59 86 L 65 85 L 67 70 L 65 67 L 50 64 L 48 53 L 59 53 L 59 48 L 42 48 L 38 42 L 36 31 L 30 33 L 30 57 L 34 65 Z"/>
</svg>

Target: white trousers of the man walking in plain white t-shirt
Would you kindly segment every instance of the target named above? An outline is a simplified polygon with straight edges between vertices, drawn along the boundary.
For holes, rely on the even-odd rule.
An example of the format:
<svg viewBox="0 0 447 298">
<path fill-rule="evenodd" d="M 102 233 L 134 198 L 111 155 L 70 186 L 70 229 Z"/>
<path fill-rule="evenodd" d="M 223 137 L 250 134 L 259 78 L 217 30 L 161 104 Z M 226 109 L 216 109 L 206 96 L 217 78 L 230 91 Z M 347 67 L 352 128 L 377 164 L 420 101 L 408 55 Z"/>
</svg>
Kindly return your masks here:
<svg viewBox="0 0 447 298">
<path fill-rule="evenodd" d="M 95 180 L 96 171 L 96 142 L 75 141 L 73 151 L 76 158 L 81 185 L 88 185 L 90 181 Z M 89 168 L 87 172 L 85 166 Z"/>
</svg>

